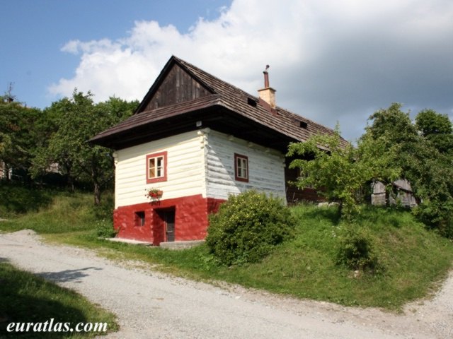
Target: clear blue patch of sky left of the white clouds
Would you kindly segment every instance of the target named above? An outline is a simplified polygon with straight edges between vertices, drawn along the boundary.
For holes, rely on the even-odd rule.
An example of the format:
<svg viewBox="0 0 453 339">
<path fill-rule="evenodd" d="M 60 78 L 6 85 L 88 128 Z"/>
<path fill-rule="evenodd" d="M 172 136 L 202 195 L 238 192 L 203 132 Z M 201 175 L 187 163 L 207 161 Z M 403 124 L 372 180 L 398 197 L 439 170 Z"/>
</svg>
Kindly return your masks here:
<svg viewBox="0 0 453 339">
<path fill-rule="evenodd" d="M 229 4 L 225 0 L 1 1 L 0 91 L 13 83 L 18 100 L 47 107 L 58 99 L 48 87 L 73 76 L 80 62 L 61 51 L 70 40 L 117 40 L 139 20 L 158 20 L 187 31 L 199 17 L 218 17 L 219 8 Z"/>
</svg>

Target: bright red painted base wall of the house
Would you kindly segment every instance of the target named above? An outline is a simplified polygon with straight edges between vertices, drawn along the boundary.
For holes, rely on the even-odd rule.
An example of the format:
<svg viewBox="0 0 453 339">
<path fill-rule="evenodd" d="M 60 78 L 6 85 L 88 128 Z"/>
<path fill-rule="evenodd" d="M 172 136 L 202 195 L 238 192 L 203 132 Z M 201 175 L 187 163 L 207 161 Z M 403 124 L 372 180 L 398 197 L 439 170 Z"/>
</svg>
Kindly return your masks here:
<svg viewBox="0 0 453 339">
<path fill-rule="evenodd" d="M 205 239 L 208 215 L 215 213 L 224 200 L 185 196 L 149 203 L 121 206 L 113 212 L 113 226 L 118 231 L 117 237 L 152 242 L 159 246 L 166 242 L 165 211 L 175 212 L 175 241 Z M 144 225 L 140 217 L 144 213 Z"/>
</svg>

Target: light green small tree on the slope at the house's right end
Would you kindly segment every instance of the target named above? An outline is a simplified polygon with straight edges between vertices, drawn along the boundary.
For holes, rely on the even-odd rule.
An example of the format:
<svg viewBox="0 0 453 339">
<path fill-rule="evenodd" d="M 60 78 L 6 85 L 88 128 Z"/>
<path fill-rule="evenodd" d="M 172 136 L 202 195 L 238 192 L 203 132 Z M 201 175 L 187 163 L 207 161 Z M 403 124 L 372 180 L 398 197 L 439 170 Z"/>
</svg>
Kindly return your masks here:
<svg viewBox="0 0 453 339">
<path fill-rule="evenodd" d="M 348 220 L 358 212 L 363 191 L 370 182 L 391 183 L 401 169 L 394 165 L 398 149 L 386 148 L 385 138 L 360 138 L 355 148 L 345 144 L 338 128 L 333 135 L 317 135 L 304 143 L 289 145 L 288 156 L 299 157 L 289 168 L 298 168 L 300 177 L 295 183 L 300 189 L 316 189 L 328 201 L 340 204 L 340 213 Z"/>
</svg>

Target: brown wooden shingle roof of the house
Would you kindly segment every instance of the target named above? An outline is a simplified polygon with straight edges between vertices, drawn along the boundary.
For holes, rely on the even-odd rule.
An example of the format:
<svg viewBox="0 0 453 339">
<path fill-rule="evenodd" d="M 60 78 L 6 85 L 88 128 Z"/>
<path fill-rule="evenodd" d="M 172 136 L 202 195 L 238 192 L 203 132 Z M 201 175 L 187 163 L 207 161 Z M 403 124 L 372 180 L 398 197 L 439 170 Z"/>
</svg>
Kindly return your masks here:
<svg viewBox="0 0 453 339">
<path fill-rule="evenodd" d="M 193 97 L 188 97 L 184 101 L 172 105 L 149 107 L 149 102 L 153 100 L 159 86 L 165 81 L 168 72 L 174 66 L 180 67 L 197 82 L 197 85 L 203 88 L 203 96 L 197 97 L 193 94 Z M 180 129 L 189 129 L 190 122 L 190 128 L 195 129 L 195 124 L 192 124 L 194 119 L 202 119 L 204 126 L 211 124 L 213 129 L 225 128 L 225 131 L 229 130 L 226 127 L 229 124 L 231 124 L 230 129 L 235 124 L 237 127 L 243 126 L 243 129 L 247 129 L 247 131 L 241 133 L 241 136 L 252 136 L 255 133 L 256 140 L 254 141 L 258 141 L 258 143 L 269 140 L 270 136 L 273 136 L 275 148 L 280 149 L 284 148 L 284 145 L 286 148 L 290 141 L 306 141 L 319 133 L 333 133 L 332 129 L 281 107 L 276 107 L 274 112 L 270 112 L 269 107 L 263 105 L 258 97 L 173 56 L 156 78 L 134 115 L 99 133 L 91 139 L 91 142 L 111 148 L 123 148 L 147 140 L 147 137 L 151 140 L 164 136 L 164 131 L 166 134 L 171 133 L 169 124 L 175 129 L 179 125 Z M 184 127 L 183 122 L 186 123 Z M 259 137 L 258 134 L 260 134 Z M 130 140 L 130 143 L 127 143 L 127 140 Z M 280 140 L 281 143 L 277 142 Z M 272 144 L 270 146 L 272 147 Z"/>
</svg>

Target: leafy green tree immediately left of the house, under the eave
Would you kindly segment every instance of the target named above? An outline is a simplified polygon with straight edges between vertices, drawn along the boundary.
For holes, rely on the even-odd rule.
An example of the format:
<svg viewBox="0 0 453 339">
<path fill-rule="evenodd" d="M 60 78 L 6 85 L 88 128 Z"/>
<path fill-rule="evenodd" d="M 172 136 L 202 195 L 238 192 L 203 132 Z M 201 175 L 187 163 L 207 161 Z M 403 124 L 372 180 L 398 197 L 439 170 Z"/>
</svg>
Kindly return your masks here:
<svg viewBox="0 0 453 339">
<path fill-rule="evenodd" d="M 72 181 L 84 178 L 93 185 L 94 203 L 101 203 L 101 189 L 113 180 L 113 151 L 87 141 L 97 133 L 130 117 L 137 102 L 110 97 L 97 105 L 93 95 L 74 90 L 71 98 L 54 102 L 50 111 L 57 117 L 57 131 L 45 148 L 36 153 L 35 175 L 43 166 L 57 162 Z"/>
</svg>

